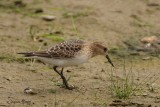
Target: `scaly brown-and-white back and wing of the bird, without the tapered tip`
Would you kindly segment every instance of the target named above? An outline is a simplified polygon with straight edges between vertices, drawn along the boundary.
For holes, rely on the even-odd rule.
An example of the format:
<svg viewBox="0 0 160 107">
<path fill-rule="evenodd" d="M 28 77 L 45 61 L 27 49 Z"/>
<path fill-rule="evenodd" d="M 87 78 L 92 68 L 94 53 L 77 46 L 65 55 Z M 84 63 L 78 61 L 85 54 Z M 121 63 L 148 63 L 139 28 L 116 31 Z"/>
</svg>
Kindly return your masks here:
<svg viewBox="0 0 160 107">
<path fill-rule="evenodd" d="M 80 51 L 85 42 L 82 40 L 70 40 L 55 45 L 47 51 L 52 58 L 72 58 Z"/>
</svg>

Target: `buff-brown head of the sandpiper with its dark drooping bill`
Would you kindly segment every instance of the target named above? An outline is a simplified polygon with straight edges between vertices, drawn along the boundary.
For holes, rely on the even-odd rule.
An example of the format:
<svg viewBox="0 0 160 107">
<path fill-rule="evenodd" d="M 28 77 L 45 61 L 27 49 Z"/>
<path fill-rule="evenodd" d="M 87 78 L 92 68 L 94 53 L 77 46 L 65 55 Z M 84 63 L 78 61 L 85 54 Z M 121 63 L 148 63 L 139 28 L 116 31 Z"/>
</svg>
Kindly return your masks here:
<svg viewBox="0 0 160 107">
<path fill-rule="evenodd" d="M 103 46 L 100 42 L 94 42 L 93 43 L 94 48 L 94 55 L 105 55 L 108 62 L 114 67 L 114 64 L 112 63 L 109 55 L 108 55 L 108 48 Z"/>
</svg>

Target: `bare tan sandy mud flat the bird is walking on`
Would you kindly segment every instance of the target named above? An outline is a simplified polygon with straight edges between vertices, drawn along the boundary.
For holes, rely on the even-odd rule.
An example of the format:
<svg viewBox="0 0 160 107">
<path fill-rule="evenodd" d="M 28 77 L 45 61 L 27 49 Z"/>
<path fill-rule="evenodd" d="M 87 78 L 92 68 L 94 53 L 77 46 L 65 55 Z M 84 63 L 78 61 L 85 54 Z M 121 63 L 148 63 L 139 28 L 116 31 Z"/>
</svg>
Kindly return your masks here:
<svg viewBox="0 0 160 107">
<path fill-rule="evenodd" d="M 56 18 L 45 21 L 43 15 Z M 20 4 L 1 0 L 0 107 L 115 106 L 113 101 L 117 98 L 110 89 L 112 70 L 105 57 L 97 56 L 83 65 L 65 68 L 69 83 L 78 87 L 70 91 L 60 88 L 59 76 L 48 66 L 24 61 L 16 53 L 43 50 L 58 43 L 38 38 L 46 33 L 64 40 L 101 41 L 109 49 L 125 47 L 123 41 L 130 38 L 160 37 L 159 17 L 159 0 L 23 0 Z M 123 79 L 124 57 L 110 56 L 116 65 L 114 77 Z M 140 85 L 139 91 L 121 101 L 126 107 L 160 107 L 160 60 L 142 57 L 125 57 L 126 71 L 132 69 L 134 82 Z M 25 94 L 27 87 L 37 94 Z"/>
</svg>

